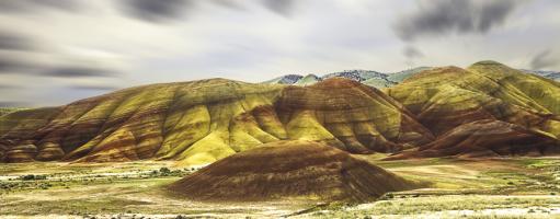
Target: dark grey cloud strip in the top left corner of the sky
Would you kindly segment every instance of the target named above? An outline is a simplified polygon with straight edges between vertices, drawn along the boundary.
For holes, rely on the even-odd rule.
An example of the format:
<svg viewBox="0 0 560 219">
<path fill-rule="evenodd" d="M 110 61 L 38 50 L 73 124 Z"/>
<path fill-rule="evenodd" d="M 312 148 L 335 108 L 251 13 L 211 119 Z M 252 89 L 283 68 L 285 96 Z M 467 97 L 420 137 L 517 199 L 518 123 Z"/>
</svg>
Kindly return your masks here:
<svg viewBox="0 0 560 219">
<path fill-rule="evenodd" d="M 1 12 L 32 12 L 41 9 L 73 11 L 78 9 L 76 0 L 0 0 Z"/>
</svg>

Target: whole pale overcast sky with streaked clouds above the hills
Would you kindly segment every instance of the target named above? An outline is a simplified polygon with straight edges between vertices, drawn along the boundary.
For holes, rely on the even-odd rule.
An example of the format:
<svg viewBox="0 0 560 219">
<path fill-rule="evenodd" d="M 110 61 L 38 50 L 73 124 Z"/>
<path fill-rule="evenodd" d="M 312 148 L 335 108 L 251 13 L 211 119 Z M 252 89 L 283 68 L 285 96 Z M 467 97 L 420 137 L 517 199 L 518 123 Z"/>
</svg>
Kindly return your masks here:
<svg viewBox="0 0 560 219">
<path fill-rule="evenodd" d="M 558 0 L 0 0 L 0 106 L 485 59 L 560 69 Z"/>
</svg>

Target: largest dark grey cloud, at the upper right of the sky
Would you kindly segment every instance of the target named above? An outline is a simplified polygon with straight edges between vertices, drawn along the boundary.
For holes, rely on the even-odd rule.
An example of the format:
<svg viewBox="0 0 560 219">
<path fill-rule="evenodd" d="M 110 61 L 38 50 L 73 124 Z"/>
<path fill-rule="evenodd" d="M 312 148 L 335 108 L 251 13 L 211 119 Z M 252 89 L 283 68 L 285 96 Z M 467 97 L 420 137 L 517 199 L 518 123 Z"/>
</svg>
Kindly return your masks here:
<svg viewBox="0 0 560 219">
<path fill-rule="evenodd" d="M 403 41 L 424 35 L 487 33 L 504 24 L 518 0 L 433 0 L 420 11 L 401 18 L 395 25 Z"/>
</svg>

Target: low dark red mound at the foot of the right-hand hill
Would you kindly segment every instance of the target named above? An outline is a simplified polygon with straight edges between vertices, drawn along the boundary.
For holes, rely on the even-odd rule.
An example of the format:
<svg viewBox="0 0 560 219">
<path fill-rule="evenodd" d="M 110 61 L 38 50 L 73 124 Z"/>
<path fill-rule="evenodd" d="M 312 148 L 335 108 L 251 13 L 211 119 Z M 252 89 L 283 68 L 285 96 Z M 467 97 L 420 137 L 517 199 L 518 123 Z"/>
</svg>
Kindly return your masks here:
<svg viewBox="0 0 560 219">
<path fill-rule="evenodd" d="M 461 125 L 418 150 L 387 160 L 434 157 L 546 155 L 560 151 L 555 136 L 500 120 L 484 119 Z"/>
</svg>

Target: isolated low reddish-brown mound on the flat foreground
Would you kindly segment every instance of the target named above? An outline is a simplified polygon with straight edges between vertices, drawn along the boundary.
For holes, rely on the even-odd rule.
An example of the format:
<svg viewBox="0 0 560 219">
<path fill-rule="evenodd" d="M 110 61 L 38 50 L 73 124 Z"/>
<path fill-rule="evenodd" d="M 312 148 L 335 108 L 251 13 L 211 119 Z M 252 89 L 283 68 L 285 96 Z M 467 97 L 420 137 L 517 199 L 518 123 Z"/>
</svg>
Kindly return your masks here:
<svg viewBox="0 0 560 219">
<path fill-rule="evenodd" d="M 278 141 L 217 161 L 170 189 L 198 200 L 285 197 L 366 201 L 413 187 L 336 148 L 311 141 Z"/>
</svg>

